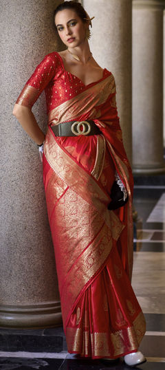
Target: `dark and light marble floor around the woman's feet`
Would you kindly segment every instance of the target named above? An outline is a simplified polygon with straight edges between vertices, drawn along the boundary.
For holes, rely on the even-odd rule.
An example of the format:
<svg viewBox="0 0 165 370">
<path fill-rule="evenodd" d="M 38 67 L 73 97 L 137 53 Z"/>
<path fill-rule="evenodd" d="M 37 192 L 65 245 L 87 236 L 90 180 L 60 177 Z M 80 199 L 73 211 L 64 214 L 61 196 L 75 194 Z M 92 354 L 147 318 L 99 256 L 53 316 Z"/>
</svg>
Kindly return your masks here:
<svg viewBox="0 0 165 370">
<path fill-rule="evenodd" d="M 165 370 L 165 186 L 135 186 L 138 213 L 134 239 L 133 289 L 146 317 L 140 350 L 147 362 L 132 369 Z M 0 351 L 1 370 L 127 370 L 114 364 L 80 359 L 66 350 Z"/>
</svg>

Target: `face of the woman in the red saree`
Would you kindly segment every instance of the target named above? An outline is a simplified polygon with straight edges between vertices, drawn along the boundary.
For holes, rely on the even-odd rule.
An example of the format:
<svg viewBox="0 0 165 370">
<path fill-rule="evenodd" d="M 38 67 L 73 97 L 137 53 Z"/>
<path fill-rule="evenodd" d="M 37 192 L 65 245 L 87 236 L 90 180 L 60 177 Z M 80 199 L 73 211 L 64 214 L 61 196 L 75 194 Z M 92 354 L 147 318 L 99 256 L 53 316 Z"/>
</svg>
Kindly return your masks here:
<svg viewBox="0 0 165 370">
<path fill-rule="evenodd" d="M 67 47 L 76 47 L 85 41 L 88 24 L 71 9 L 61 10 L 56 14 L 55 24 L 61 40 Z"/>
</svg>

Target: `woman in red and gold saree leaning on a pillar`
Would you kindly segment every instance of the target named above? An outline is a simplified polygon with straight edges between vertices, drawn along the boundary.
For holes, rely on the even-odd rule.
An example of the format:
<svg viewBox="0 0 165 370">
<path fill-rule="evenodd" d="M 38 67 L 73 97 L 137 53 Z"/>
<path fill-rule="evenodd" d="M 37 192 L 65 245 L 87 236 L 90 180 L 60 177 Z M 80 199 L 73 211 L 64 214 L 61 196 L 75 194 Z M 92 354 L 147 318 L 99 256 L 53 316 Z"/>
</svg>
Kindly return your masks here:
<svg viewBox="0 0 165 370">
<path fill-rule="evenodd" d="M 45 141 L 43 178 L 68 351 L 124 356 L 132 366 L 145 361 L 137 351 L 145 320 L 131 287 L 133 178 L 115 80 L 90 52 L 91 19 L 80 3 L 58 6 L 55 25 L 67 50 L 45 56 L 13 113 L 40 151 Z M 31 111 L 43 89 L 46 135 Z"/>
</svg>

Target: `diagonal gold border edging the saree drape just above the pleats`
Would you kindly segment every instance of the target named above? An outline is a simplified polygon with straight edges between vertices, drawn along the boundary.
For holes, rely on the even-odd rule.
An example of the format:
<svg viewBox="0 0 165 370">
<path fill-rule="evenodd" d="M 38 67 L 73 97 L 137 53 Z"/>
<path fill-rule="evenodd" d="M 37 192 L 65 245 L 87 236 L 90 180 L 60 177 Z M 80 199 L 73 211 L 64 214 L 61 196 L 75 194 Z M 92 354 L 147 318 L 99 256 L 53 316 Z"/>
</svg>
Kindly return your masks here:
<svg viewBox="0 0 165 370">
<path fill-rule="evenodd" d="M 98 236 L 69 270 L 61 289 L 61 307 L 65 325 L 76 298 L 106 261 L 112 246 L 111 231 L 104 225 Z"/>
</svg>

